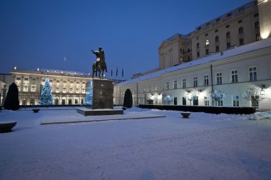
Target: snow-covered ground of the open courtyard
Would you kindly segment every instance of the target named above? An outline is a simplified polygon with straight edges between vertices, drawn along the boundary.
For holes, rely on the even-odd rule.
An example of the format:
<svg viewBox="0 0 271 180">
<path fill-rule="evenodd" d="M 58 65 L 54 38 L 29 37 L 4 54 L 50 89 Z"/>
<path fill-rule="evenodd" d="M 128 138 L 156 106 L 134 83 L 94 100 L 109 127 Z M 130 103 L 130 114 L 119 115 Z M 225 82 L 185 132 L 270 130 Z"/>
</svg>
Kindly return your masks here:
<svg viewBox="0 0 271 180">
<path fill-rule="evenodd" d="M 2 110 L 0 121 L 17 125 L 0 134 L 0 179 L 271 179 L 271 119 L 183 119 L 178 111 L 137 108 L 126 114 L 134 111 L 166 117 L 41 125 L 46 116 L 82 115 Z"/>
</svg>

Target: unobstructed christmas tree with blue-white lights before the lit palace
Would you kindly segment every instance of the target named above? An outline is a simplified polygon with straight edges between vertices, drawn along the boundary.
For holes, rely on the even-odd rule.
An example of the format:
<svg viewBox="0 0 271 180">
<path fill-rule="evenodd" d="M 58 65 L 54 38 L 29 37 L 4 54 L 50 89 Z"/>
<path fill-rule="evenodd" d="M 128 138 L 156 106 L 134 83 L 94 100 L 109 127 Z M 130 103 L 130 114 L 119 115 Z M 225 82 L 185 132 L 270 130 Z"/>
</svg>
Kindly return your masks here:
<svg viewBox="0 0 271 180">
<path fill-rule="evenodd" d="M 41 97 L 39 99 L 39 104 L 41 105 L 52 105 L 53 104 L 53 94 L 51 86 L 49 84 L 49 79 L 46 78 L 44 87 L 41 91 Z"/>
</svg>

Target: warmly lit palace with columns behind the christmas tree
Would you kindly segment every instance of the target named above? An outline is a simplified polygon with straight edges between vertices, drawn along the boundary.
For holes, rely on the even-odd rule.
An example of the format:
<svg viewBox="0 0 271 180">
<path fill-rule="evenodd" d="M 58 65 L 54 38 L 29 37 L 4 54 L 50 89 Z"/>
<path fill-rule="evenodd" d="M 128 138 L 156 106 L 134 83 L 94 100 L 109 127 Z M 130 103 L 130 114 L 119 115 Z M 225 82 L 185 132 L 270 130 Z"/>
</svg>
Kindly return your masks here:
<svg viewBox="0 0 271 180">
<path fill-rule="evenodd" d="M 11 74 L 1 74 L 0 77 L 2 84 L 5 82 L 6 89 L 9 88 L 12 82 L 16 83 L 19 90 L 20 105 L 36 105 L 39 103 L 39 97 L 46 78 L 49 79 L 51 85 L 53 104 L 84 104 L 86 83 L 92 79 L 90 75 L 76 71 L 54 69 L 26 71 L 16 69 L 16 67 L 11 71 Z"/>
</svg>

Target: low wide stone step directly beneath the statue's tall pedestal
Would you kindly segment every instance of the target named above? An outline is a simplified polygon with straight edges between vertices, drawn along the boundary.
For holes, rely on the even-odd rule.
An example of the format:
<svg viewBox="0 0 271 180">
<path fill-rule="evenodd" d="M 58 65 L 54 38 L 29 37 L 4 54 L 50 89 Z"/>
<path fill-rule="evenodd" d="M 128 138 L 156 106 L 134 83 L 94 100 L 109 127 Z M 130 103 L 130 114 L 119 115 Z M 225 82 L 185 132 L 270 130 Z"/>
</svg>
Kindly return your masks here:
<svg viewBox="0 0 271 180">
<path fill-rule="evenodd" d="M 123 114 L 122 109 L 87 109 L 87 108 L 78 108 L 76 109 L 78 114 L 83 116 L 103 116 L 103 115 L 116 115 Z"/>
</svg>

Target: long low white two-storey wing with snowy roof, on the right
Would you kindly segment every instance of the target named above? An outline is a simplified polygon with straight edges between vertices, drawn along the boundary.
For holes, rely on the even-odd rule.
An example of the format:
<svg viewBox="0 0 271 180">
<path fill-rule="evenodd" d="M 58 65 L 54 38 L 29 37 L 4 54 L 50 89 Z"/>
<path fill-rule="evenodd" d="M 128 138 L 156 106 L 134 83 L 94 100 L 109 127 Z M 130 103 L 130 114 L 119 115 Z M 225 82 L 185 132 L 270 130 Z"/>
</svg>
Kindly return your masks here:
<svg viewBox="0 0 271 180">
<path fill-rule="evenodd" d="M 133 105 L 211 106 L 208 94 L 217 89 L 226 95 L 218 106 L 252 106 L 242 97 L 249 86 L 262 89 L 257 109 L 271 109 L 270 38 L 116 84 L 114 104 L 123 104 L 126 89 L 131 89 Z"/>
</svg>

